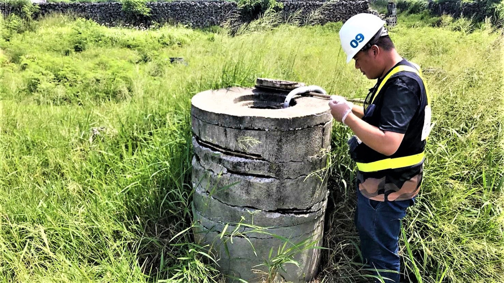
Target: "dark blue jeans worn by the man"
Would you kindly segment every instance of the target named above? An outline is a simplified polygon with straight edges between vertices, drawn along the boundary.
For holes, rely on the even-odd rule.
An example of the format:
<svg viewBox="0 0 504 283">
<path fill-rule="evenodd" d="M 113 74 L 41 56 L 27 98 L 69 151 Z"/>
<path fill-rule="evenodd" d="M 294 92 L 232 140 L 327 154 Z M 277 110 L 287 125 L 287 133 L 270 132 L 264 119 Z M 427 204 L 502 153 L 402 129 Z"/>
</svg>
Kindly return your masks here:
<svg viewBox="0 0 504 283">
<path fill-rule="evenodd" d="M 357 188 L 355 226 L 359 232 L 360 250 L 364 263 L 372 269 L 399 272 L 399 233 L 406 208 L 414 198 L 401 201 L 376 201 L 363 196 Z M 399 282 L 400 274 L 379 271 L 386 283 Z M 376 271 L 373 274 L 377 274 Z M 379 279 L 375 280 L 380 282 Z"/>
</svg>

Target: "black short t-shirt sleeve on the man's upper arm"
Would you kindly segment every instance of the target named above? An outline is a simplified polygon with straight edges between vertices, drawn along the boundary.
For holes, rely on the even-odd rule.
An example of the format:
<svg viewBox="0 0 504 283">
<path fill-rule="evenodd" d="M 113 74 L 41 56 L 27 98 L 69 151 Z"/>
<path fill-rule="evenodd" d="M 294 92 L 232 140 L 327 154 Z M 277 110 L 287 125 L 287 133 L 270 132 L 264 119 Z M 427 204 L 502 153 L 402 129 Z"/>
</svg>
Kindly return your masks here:
<svg viewBox="0 0 504 283">
<path fill-rule="evenodd" d="M 379 128 L 405 133 L 420 105 L 420 88 L 415 80 L 396 78 L 390 82 L 383 97 Z"/>
</svg>

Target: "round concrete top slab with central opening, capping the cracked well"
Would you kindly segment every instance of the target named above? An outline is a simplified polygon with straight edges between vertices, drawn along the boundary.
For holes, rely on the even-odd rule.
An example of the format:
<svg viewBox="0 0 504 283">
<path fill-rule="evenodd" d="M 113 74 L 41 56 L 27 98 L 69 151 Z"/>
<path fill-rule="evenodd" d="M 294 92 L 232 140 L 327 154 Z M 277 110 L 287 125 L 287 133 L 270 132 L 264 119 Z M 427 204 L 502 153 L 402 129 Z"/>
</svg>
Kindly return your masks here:
<svg viewBox="0 0 504 283">
<path fill-rule="evenodd" d="M 258 88 L 209 90 L 192 98 L 191 113 L 224 127 L 276 131 L 308 128 L 332 119 L 327 99 L 295 96 L 291 103 L 295 105 L 283 109 L 286 96 L 287 92 Z"/>
</svg>

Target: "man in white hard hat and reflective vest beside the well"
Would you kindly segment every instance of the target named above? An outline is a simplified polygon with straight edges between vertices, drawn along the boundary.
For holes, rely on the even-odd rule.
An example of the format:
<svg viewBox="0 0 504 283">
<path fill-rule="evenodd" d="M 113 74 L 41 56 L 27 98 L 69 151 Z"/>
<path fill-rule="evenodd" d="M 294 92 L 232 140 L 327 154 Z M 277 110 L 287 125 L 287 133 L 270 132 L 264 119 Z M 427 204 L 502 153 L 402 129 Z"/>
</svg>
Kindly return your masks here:
<svg viewBox="0 0 504 283">
<path fill-rule="evenodd" d="M 355 68 L 377 83 L 364 107 L 340 96 L 329 106 L 355 134 L 348 145 L 358 169 L 355 225 L 362 256 L 389 283 L 400 278 L 401 220 L 420 189 L 430 105 L 419 67 L 398 54 L 384 24 L 358 14 L 342 26 L 347 63 L 353 58 Z"/>
</svg>

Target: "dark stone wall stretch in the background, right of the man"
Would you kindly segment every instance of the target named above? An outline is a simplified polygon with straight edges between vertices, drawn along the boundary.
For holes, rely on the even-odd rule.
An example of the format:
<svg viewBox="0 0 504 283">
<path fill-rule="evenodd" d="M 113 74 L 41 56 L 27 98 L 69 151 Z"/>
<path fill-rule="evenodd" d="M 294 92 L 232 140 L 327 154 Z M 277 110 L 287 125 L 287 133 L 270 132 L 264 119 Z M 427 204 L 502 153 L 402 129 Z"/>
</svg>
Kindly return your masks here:
<svg viewBox="0 0 504 283">
<path fill-rule="evenodd" d="M 462 3 L 460 0 L 452 0 L 442 4 L 434 2 L 429 3 L 429 10 L 435 15 L 451 15 L 455 18 L 461 15 L 466 18 L 472 18 L 475 21 L 483 21 L 485 17 L 491 17 L 486 9 L 486 1 L 476 1 L 471 3 Z"/>
</svg>

